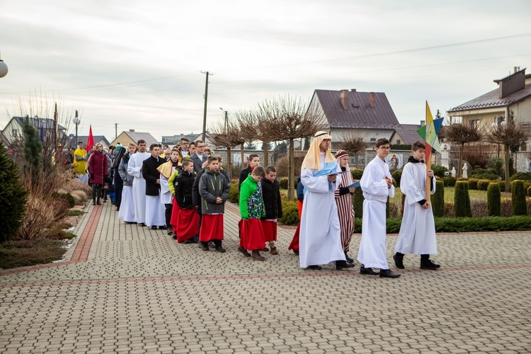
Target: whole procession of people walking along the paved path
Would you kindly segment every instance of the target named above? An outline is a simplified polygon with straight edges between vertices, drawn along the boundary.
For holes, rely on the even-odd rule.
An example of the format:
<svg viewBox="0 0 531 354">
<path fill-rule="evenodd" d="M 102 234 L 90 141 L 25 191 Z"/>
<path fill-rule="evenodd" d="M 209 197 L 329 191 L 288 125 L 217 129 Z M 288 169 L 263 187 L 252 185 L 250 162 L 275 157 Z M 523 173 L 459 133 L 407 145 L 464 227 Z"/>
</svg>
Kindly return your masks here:
<svg viewBox="0 0 531 354">
<path fill-rule="evenodd" d="M 385 159 L 389 140 L 378 139 L 377 156 L 370 161 L 359 183 L 348 167 L 348 152 L 331 152 L 332 137 L 316 132 L 302 162 L 297 185 L 299 225 L 288 249 L 299 256 L 301 268 L 320 270 L 335 265 L 337 270 L 355 266 L 348 255 L 354 232 L 354 193 L 363 193 L 362 235 L 357 260 L 362 275 L 399 278 L 389 269 L 386 247 L 386 202 L 394 196 L 394 185 Z M 193 152 L 190 151 L 193 146 Z M 404 218 L 396 242 L 394 264 L 404 269 L 408 253 L 421 256 L 421 269 L 440 265 L 430 259 L 437 253 L 435 224 L 426 180 L 434 178 L 424 164 L 426 147 L 413 143 L 412 156 L 404 166 L 401 191 L 406 195 Z M 179 244 L 197 244 L 203 251 L 223 253 L 224 205 L 231 180 L 222 167 L 221 156 L 205 149 L 201 140 L 185 137 L 170 149 L 159 144 L 147 147 L 144 140 L 107 152 L 101 144 L 87 158 L 83 143 L 74 152 L 76 177 L 93 187 L 93 205 L 101 205 L 105 181 L 119 185 L 115 198 L 118 219 L 138 227 L 165 229 Z M 87 173 L 88 171 L 88 173 Z M 109 178 L 110 176 L 110 178 Z M 88 178 L 87 178 L 88 177 Z M 435 181 L 430 193 L 435 193 Z M 260 166 L 251 154 L 239 176 L 239 246 L 244 257 L 265 261 L 264 252 L 278 255 L 277 222 L 282 217 L 280 188 L 275 166 Z M 356 191 L 356 187 L 361 190 Z M 375 269 L 379 271 L 375 271 Z"/>
</svg>

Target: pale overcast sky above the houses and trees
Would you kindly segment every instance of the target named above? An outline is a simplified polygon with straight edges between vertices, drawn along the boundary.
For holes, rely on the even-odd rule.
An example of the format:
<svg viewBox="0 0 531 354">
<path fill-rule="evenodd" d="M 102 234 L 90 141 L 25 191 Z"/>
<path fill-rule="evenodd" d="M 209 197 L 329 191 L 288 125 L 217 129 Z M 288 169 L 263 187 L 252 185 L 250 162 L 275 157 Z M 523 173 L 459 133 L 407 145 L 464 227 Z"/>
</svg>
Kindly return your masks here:
<svg viewBox="0 0 531 354">
<path fill-rule="evenodd" d="M 80 110 L 79 135 L 200 133 L 206 71 L 208 126 L 220 107 L 314 89 L 384 92 L 418 123 L 426 100 L 445 112 L 528 67 L 530 13 L 529 0 L 2 0 L 0 127 L 20 102 L 57 101 L 62 119 Z"/>
</svg>

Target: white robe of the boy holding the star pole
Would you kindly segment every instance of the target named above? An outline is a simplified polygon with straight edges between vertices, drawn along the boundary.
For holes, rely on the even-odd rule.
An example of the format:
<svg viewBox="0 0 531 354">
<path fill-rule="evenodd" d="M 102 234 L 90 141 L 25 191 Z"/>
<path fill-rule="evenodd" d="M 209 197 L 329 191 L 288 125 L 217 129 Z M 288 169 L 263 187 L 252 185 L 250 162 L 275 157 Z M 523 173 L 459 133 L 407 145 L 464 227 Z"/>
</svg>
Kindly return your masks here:
<svg viewBox="0 0 531 354">
<path fill-rule="evenodd" d="M 435 193 L 432 179 L 431 194 Z M 400 190 L 406 195 L 404 216 L 394 250 L 400 253 L 437 254 L 433 209 L 418 202 L 426 199 L 426 165 L 407 163 L 402 171 Z"/>
</svg>

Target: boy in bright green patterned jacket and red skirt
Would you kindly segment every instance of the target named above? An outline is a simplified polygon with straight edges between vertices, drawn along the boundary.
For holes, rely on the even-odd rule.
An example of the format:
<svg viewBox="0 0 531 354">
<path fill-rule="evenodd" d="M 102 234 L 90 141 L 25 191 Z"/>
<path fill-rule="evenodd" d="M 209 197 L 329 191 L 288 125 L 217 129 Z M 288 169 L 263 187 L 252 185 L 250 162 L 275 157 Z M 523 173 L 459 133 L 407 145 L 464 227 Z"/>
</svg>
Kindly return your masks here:
<svg viewBox="0 0 531 354">
<path fill-rule="evenodd" d="M 240 214 L 241 235 L 238 251 L 246 257 L 252 257 L 255 261 L 264 261 L 260 251 L 265 248 L 265 239 L 261 224 L 261 218 L 265 217 L 265 205 L 261 179 L 265 176 L 265 169 L 256 166 L 240 186 Z M 252 251 L 252 255 L 247 251 Z"/>
</svg>

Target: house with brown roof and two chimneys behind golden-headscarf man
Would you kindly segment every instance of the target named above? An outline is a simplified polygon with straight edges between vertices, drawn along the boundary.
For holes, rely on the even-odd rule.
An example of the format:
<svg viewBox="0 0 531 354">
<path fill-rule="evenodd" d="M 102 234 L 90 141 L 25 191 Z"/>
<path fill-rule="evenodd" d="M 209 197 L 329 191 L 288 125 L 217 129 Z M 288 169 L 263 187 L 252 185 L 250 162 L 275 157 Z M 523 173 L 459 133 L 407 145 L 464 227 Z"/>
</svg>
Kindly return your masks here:
<svg viewBox="0 0 531 354">
<path fill-rule="evenodd" d="M 310 106 L 322 110 L 328 121 L 334 142 L 341 142 L 345 135 L 365 137 L 367 142 L 389 139 L 400 124 L 383 92 L 360 92 L 355 89 L 315 90 Z"/>
</svg>

